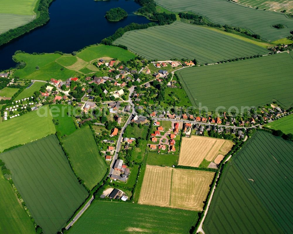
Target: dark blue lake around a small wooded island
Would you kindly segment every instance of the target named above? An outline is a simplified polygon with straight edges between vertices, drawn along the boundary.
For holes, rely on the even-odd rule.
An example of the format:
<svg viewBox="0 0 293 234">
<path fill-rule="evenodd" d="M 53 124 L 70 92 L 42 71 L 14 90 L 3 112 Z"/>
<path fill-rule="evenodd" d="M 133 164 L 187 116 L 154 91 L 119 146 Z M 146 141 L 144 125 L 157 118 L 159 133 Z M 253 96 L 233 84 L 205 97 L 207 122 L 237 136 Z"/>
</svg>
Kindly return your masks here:
<svg viewBox="0 0 293 234">
<path fill-rule="evenodd" d="M 114 7 L 123 8 L 128 16 L 108 22 L 105 13 Z M 71 53 L 100 42 L 130 23 L 149 23 L 144 16 L 133 14 L 140 7 L 133 0 L 56 0 L 49 8 L 50 21 L 45 26 L 0 47 L 0 70 L 15 66 L 12 55 L 16 50 Z"/>
</svg>

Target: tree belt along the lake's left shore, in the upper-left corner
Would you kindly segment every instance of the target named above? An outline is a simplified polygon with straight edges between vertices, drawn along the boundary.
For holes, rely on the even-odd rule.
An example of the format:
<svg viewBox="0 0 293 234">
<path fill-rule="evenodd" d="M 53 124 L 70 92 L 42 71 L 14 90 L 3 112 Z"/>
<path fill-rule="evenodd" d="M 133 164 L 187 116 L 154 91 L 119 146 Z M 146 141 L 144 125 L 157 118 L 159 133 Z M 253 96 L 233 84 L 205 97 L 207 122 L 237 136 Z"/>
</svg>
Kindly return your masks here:
<svg viewBox="0 0 293 234">
<path fill-rule="evenodd" d="M 20 35 L 23 35 L 24 33 L 28 33 L 30 30 L 33 30 L 34 28 L 40 27 L 47 23 L 50 19 L 49 17 L 49 6 L 52 3 L 53 0 L 40 0 L 38 12 L 40 12 L 40 15 L 33 20 L 32 22 L 25 24 L 23 26 L 20 26 L 18 28 L 10 29 L 6 33 L 3 33 L 0 35 L 0 45 L 3 45 L 12 39 L 19 37 Z"/>
</svg>

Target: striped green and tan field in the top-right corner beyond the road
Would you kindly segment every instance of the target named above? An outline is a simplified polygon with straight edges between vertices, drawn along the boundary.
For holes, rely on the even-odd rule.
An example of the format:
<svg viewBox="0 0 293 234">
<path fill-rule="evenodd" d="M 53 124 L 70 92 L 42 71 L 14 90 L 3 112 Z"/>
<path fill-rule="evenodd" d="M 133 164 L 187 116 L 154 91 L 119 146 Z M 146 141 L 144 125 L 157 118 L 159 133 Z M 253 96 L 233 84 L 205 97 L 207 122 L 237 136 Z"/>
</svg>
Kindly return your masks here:
<svg viewBox="0 0 293 234">
<path fill-rule="evenodd" d="M 258 7 L 260 9 L 272 10 L 272 11 L 283 11 L 287 13 L 293 12 L 292 0 L 236 0 L 241 4 L 251 7 Z"/>
</svg>

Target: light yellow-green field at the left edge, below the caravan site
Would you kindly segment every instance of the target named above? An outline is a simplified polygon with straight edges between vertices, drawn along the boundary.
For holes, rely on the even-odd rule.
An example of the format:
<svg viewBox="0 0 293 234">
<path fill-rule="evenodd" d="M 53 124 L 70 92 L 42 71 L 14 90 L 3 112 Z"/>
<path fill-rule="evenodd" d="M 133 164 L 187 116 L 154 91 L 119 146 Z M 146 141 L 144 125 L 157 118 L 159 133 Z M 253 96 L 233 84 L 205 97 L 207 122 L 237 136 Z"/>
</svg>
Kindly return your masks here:
<svg viewBox="0 0 293 234">
<path fill-rule="evenodd" d="M 54 124 L 48 112 L 49 107 L 46 106 L 0 123 L 0 152 L 54 134 Z M 40 117 L 38 113 L 45 116 Z"/>
</svg>

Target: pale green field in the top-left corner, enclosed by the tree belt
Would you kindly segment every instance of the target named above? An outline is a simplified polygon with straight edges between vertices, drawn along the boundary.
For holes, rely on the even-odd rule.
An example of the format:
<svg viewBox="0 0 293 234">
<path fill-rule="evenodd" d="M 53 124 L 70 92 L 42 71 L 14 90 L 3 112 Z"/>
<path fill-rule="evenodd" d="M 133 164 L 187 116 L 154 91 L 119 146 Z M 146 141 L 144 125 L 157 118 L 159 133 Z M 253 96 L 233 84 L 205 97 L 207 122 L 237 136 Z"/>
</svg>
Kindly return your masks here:
<svg viewBox="0 0 293 234">
<path fill-rule="evenodd" d="M 26 24 L 35 18 L 35 5 L 38 0 L 1 0 L 0 34 L 9 29 Z"/>
</svg>

